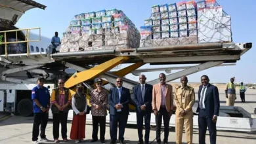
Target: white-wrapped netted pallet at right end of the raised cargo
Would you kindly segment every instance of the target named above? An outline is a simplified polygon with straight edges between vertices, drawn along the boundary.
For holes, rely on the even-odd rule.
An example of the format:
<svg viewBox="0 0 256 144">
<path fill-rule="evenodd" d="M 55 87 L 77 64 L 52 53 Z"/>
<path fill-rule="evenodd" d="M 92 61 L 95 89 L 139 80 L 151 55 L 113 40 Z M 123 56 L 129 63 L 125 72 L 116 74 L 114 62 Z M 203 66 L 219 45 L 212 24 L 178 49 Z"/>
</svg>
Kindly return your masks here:
<svg viewBox="0 0 256 144">
<path fill-rule="evenodd" d="M 231 16 L 215 0 L 197 2 L 198 43 L 232 42 Z"/>
</svg>

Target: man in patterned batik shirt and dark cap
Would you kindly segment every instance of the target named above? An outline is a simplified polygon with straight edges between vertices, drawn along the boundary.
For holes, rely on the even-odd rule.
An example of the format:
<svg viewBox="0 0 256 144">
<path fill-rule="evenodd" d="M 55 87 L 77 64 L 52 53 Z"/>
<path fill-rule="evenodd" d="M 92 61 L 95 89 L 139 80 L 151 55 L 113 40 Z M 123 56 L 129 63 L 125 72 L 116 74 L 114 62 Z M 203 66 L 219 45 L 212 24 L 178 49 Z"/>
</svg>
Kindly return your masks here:
<svg viewBox="0 0 256 144">
<path fill-rule="evenodd" d="M 108 104 L 108 91 L 102 88 L 102 79 L 96 79 L 96 89 L 91 92 L 90 104 L 93 115 L 93 139 L 98 141 L 98 124 L 100 124 L 100 143 L 105 143 L 106 132 L 106 105 Z"/>
</svg>

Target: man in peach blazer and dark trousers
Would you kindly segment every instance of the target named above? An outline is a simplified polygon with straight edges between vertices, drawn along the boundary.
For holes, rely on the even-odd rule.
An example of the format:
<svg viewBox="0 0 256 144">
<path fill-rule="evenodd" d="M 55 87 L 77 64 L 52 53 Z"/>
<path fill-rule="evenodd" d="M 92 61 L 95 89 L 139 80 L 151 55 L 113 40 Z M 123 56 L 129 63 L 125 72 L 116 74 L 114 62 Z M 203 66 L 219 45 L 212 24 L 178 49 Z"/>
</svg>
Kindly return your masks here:
<svg viewBox="0 0 256 144">
<path fill-rule="evenodd" d="M 165 83 L 165 74 L 159 75 L 160 83 L 153 86 L 152 92 L 152 109 L 156 116 L 156 141 L 161 143 L 161 120 L 163 117 L 164 139 L 163 143 L 168 143 L 169 122 L 173 114 L 173 87 Z"/>
</svg>

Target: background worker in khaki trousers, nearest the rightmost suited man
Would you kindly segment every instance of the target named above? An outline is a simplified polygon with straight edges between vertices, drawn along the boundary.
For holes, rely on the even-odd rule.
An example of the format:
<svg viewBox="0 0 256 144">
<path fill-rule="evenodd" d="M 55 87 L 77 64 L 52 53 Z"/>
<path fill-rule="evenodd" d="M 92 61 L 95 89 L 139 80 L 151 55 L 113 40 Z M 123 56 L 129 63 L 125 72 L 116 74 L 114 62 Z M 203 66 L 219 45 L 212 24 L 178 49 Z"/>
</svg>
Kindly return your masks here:
<svg viewBox="0 0 256 144">
<path fill-rule="evenodd" d="M 226 94 L 226 105 L 234 106 L 234 102 L 236 99 L 236 84 L 234 84 L 234 78 L 231 78 L 230 82 L 226 84 L 225 94 Z"/>
</svg>

